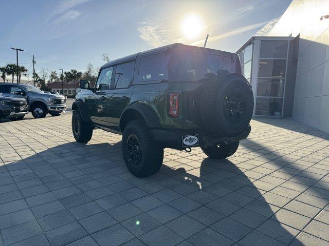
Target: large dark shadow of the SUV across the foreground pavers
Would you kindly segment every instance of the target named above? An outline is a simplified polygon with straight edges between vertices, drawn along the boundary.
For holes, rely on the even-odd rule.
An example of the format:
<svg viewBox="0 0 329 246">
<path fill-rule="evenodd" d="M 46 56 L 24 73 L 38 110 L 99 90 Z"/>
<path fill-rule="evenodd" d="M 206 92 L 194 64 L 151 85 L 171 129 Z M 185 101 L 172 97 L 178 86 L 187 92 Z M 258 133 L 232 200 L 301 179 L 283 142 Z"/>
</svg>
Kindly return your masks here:
<svg viewBox="0 0 329 246">
<path fill-rule="evenodd" d="M 230 160 L 190 162 L 167 161 L 159 173 L 136 178 L 121 141 L 69 142 L 8 161 L 0 165 L 0 245 L 287 245 L 299 233 L 277 222 L 280 206 Z M 180 217 L 158 217 L 163 206 Z M 148 226 L 136 229 L 134 216 Z"/>
</svg>

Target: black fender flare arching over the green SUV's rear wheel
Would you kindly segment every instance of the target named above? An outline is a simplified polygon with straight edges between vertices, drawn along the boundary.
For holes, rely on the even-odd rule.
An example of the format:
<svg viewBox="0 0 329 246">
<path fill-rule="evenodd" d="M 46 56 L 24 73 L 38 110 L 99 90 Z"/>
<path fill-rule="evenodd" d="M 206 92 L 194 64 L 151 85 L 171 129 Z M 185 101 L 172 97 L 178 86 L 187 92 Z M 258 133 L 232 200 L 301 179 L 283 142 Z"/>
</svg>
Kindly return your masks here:
<svg viewBox="0 0 329 246">
<path fill-rule="evenodd" d="M 122 131 L 127 123 L 125 122 L 125 115 L 129 114 L 129 111 L 137 111 L 143 117 L 149 128 L 160 128 L 159 120 L 149 106 L 144 104 L 133 104 L 125 108 L 121 113 L 119 126 Z"/>
</svg>

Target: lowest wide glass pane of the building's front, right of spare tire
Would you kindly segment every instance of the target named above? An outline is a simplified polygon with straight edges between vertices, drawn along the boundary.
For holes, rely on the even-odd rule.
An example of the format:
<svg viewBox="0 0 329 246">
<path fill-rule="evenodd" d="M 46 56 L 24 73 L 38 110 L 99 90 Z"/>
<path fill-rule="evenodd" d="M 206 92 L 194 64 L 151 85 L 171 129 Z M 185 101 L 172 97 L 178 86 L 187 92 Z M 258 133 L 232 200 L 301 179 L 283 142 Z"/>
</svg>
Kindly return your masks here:
<svg viewBox="0 0 329 246">
<path fill-rule="evenodd" d="M 266 98 L 257 97 L 256 115 L 282 115 L 282 101 L 283 98 Z"/>
</svg>

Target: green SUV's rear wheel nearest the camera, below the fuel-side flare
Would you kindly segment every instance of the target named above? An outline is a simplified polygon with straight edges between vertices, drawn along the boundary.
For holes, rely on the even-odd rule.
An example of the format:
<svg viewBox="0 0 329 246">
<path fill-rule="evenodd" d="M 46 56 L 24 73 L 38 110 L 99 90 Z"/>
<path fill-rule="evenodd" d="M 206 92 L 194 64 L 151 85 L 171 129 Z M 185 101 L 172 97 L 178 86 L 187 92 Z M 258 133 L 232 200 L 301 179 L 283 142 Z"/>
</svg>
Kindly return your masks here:
<svg viewBox="0 0 329 246">
<path fill-rule="evenodd" d="M 132 120 L 125 126 L 121 147 L 126 166 L 136 177 L 147 177 L 160 170 L 163 148 L 154 142 L 144 120 Z"/>
</svg>

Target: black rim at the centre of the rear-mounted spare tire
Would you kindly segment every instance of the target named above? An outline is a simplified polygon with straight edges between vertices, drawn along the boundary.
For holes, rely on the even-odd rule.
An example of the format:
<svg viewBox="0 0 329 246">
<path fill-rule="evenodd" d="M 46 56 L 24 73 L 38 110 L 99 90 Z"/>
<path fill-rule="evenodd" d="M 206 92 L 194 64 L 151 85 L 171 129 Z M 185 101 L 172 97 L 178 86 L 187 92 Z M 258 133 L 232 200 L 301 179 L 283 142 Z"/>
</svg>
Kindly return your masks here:
<svg viewBox="0 0 329 246">
<path fill-rule="evenodd" d="M 224 98 L 224 115 L 231 123 L 241 120 L 246 112 L 247 100 L 239 88 L 230 90 Z"/>
</svg>

